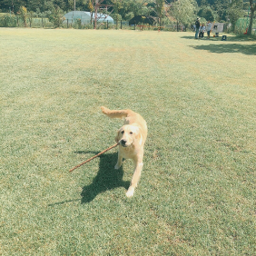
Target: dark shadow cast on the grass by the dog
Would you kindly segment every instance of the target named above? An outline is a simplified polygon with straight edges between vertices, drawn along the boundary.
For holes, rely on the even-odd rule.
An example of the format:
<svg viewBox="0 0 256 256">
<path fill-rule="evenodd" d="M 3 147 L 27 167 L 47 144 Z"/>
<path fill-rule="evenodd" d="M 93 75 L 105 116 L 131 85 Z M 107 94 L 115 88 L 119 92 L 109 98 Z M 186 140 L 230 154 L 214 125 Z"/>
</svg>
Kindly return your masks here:
<svg viewBox="0 0 256 256">
<path fill-rule="evenodd" d="M 96 152 L 93 153 L 96 154 Z M 117 162 L 117 153 L 102 154 L 99 158 L 99 172 L 90 185 L 84 186 L 81 193 L 81 203 L 92 202 L 94 198 L 102 192 L 113 190 L 118 187 L 123 187 L 126 190 L 129 188 L 130 182 L 123 181 L 123 168 L 121 167 L 118 170 L 114 169 L 114 165 Z"/>
</svg>

